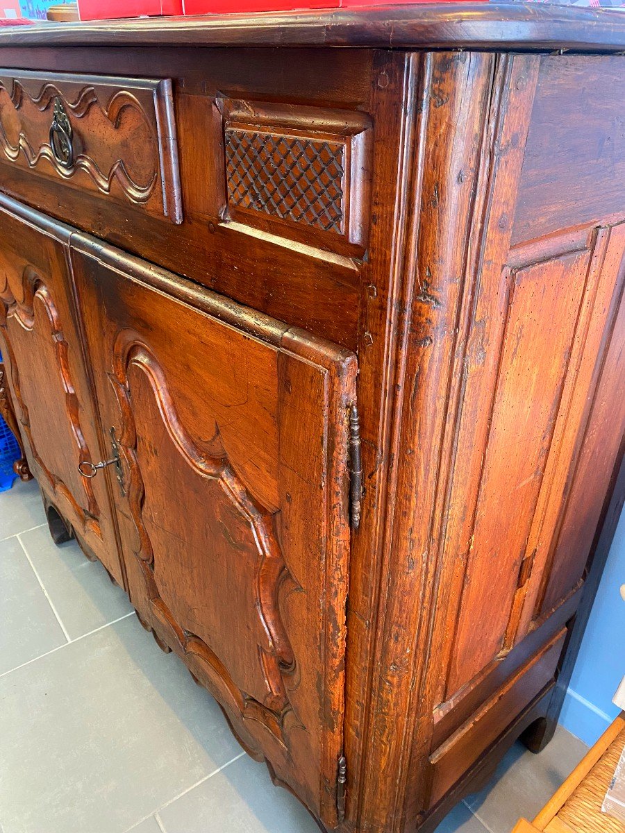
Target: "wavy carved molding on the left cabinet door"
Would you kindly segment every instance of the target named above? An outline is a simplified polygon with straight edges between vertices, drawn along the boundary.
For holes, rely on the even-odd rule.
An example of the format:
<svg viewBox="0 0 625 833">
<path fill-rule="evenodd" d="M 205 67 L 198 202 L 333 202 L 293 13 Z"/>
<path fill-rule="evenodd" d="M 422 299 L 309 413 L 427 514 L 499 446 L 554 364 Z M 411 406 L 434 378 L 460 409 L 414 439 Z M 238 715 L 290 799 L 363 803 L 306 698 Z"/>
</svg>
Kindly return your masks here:
<svg viewBox="0 0 625 833">
<path fill-rule="evenodd" d="M 39 302 L 42 302 L 42 307 L 46 313 L 47 322 L 50 327 L 49 337 L 53 343 L 54 351 L 57 357 L 57 382 L 62 388 L 67 423 L 72 431 L 72 437 L 77 452 L 76 465 L 82 461 L 91 461 L 91 455 L 82 434 L 82 426 L 80 424 L 80 405 L 69 370 L 68 345 L 63 335 L 62 323 L 58 315 L 57 307 L 46 283 L 31 266 L 24 268 L 22 274 L 22 288 L 23 301 L 18 302 L 13 296 L 13 292 L 11 292 L 7 281 L 4 283 L 3 287 L 0 287 L 0 301 L 2 301 L 0 304 L 0 328 L 2 328 L 2 333 L 10 359 L 13 391 L 15 392 L 15 398 L 19 408 L 18 419 L 23 426 L 24 433 L 28 440 L 28 446 L 30 446 L 31 454 L 37 462 L 37 466 L 39 466 L 43 475 L 47 478 L 47 481 L 49 482 L 55 495 L 62 496 L 62 498 L 67 501 L 70 506 L 72 506 L 72 510 L 81 521 L 82 528 L 85 532 L 90 531 L 96 536 L 102 537 L 100 524 L 97 520 L 100 515 L 100 511 L 97 506 L 96 496 L 92 490 L 91 481 L 84 482 L 84 489 L 87 495 L 87 511 L 84 511 L 82 506 L 78 504 L 76 498 L 72 495 L 72 492 L 67 488 L 66 484 L 60 479 L 60 477 L 47 468 L 42 460 L 42 456 L 37 450 L 35 439 L 32 436 L 28 405 L 24 402 L 23 398 L 18 362 L 16 361 L 13 352 L 13 344 L 7 332 L 7 320 L 13 316 L 18 319 L 18 322 L 24 330 L 27 332 L 33 332 L 35 327 L 34 303 L 35 300 L 38 299 Z M 23 476 L 19 471 L 18 474 Z"/>
</svg>

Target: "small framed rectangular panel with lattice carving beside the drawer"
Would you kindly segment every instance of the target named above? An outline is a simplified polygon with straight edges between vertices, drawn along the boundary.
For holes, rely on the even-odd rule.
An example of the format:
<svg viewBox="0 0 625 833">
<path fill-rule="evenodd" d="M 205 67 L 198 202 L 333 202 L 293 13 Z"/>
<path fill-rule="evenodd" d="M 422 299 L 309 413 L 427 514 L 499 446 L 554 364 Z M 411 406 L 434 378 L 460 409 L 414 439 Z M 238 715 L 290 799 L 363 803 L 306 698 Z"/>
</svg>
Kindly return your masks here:
<svg viewBox="0 0 625 833">
<path fill-rule="evenodd" d="M 224 98 L 228 213 L 307 242 L 366 242 L 371 121 L 361 112 Z M 313 237 L 311 237 L 313 235 Z"/>
</svg>

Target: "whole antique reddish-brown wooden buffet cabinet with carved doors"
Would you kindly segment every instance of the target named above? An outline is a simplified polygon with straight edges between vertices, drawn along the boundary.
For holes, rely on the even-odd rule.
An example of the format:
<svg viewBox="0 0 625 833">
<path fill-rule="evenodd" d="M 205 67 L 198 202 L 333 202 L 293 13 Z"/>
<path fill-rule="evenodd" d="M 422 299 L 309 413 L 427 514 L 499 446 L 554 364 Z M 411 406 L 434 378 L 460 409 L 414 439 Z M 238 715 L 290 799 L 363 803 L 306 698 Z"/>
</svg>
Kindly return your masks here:
<svg viewBox="0 0 625 833">
<path fill-rule="evenodd" d="M 52 534 L 328 830 L 552 735 L 625 491 L 624 49 L 491 3 L 0 33 Z"/>
</svg>

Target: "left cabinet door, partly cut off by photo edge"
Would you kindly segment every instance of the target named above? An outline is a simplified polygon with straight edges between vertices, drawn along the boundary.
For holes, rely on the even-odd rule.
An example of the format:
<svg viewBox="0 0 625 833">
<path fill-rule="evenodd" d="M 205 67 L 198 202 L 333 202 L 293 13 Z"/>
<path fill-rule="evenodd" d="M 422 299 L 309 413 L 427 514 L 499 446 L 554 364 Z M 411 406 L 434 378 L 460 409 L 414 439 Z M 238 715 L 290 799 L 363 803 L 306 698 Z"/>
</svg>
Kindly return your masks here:
<svg viewBox="0 0 625 833">
<path fill-rule="evenodd" d="M 82 462 L 100 461 L 107 449 L 98 441 L 72 301 L 70 233 L 0 198 L 0 350 L 48 518 L 57 511 L 87 556 L 102 561 L 123 586 L 106 481 L 78 471 Z"/>
</svg>

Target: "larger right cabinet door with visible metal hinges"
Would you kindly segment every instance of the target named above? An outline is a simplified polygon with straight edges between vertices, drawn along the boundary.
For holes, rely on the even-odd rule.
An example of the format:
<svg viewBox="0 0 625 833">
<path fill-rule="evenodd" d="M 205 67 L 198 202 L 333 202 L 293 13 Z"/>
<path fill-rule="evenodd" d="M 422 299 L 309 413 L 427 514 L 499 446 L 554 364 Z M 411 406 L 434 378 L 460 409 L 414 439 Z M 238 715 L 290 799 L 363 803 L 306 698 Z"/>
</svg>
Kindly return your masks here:
<svg viewBox="0 0 625 833">
<path fill-rule="evenodd" d="M 72 264 L 133 603 L 333 826 L 355 357 L 87 237 Z"/>
</svg>

